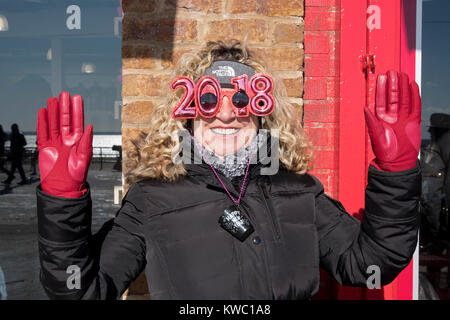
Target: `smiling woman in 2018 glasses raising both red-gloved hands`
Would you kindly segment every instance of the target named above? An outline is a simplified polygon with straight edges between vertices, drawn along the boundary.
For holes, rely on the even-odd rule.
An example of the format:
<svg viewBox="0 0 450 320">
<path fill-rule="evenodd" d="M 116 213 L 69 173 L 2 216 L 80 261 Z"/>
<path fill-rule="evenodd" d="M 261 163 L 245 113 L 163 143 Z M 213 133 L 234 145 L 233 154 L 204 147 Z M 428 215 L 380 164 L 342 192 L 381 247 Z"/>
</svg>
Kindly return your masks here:
<svg viewBox="0 0 450 320">
<path fill-rule="evenodd" d="M 132 185 L 96 236 L 85 182 L 92 126 L 83 133 L 80 96 L 49 99 L 38 117 L 37 189 L 41 281 L 49 297 L 117 299 L 144 270 L 152 299 L 308 299 L 318 290 L 319 266 L 345 285 L 366 285 L 370 266 L 380 269 L 382 285 L 398 275 L 417 241 L 417 85 L 395 71 L 380 75 L 377 116 L 365 109 L 376 159 L 361 225 L 307 173 L 309 144 L 277 82 L 272 113 L 236 117 L 233 106 L 242 100 L 234 101 L 237 91 L 224 77 L 264 73 L 238 42 L 208 43 L 181 59 L 176 76 L 197 83 L 205 74 L 216 77 L 220 108 L 211 118 L 174 119 L 183 94 L 177 90 L 153 110 L 150 132 L 127 157 Z M 267 156 L 279 154 L 279 170 L 270 175 L 261 173 L 269 166 L 258 144 L 261 128 L 278 132 L 279 146 Z M 192 139 L 180 143 L 186 135 L 179 130 Z M 185 157 L 188 141 L 193 152 Z M 174 159 L 180 150 L 194 161 Z M 203 161 L 195 161 L 200 154 Z M 68 286 L 68 268 L 80 271 L 78 284 Z"/>
</svg>

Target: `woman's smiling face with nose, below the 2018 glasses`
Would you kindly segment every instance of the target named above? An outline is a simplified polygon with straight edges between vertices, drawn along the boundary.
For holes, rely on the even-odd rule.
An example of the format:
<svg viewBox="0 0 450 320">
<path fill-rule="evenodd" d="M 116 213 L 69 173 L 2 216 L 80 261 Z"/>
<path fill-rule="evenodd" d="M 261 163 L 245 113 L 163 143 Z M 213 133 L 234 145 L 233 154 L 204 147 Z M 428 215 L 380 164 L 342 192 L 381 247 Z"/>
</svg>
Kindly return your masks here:
<svg viewBox="0 0 450 320">
<path fill-rule="evenodd" d="M 258 118 L 253 114 L 249 117 L 236 117 L 232 102 L 227 96 L 223 97 L 215 117 L 199 117 L 194 121 L 195 138 L 219 157 L 236 153 L 240 148 L 246 147 L 257 131 Z"/>
</svg>

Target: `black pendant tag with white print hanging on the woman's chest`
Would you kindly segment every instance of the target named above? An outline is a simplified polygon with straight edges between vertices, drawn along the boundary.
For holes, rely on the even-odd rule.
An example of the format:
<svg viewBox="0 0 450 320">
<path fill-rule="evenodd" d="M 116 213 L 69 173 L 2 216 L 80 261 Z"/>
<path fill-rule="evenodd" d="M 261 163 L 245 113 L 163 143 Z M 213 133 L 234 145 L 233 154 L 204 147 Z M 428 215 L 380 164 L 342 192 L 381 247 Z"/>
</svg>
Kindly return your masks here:
<svg viewBox="0 0 450 320">
<path fill-rule="evenodd" d="M 224 210 L 223 214 L 219 217 L 219 224 L 242 242 L 255 231 L 250 221 L 234 205 Z"/>
</svg>

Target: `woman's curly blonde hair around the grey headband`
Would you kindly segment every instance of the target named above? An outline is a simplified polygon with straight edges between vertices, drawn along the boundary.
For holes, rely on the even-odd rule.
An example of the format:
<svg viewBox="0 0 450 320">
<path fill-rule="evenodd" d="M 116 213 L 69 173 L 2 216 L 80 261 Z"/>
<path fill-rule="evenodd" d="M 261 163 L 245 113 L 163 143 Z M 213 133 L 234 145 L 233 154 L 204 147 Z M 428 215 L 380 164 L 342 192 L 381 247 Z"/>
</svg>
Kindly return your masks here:
<svg viewBox="0 0 450 320">
<path fill-rule="evenodd" d="M 194 81 L 200 79 L 206 68 L 216 60 L 234 60 L 252 67 L 256 73 L 270 74 L 268 69 L 256 59 L 240 41 L 229 43 L 208 42 L 197 52 L 184 54 L 173 72 L 173 78 L 187 76 Z M 307 140 L 301 121 L 301 113 L 287 99 L 286 89 L 280 79 L 273 77 L 273 97 L 276 107 L 272 114 L 261 121 L 260 129 L 279 130 L 280 166 L 288 171 L 303 174 L 311 164 L 311 145 Z M 169 85 L 167 85 L 169 88 Z M 171 90 L 168 90 L 171 91 Z M 174 150 L 181 150 L 178 130 L 186 129 L 188 120 L 174 120 L 172 109 L 180 101 L 183 90 L 168 93 L 164 103 L 153 108 L 149 131 L 142 133 L 133 142 L 134 147 L 127 150 L 125 166 L 129 169 L 125 181 L 149 178 L 175 181 L 187 172 L 182 163 L 174 163 Z"/>
</svg>

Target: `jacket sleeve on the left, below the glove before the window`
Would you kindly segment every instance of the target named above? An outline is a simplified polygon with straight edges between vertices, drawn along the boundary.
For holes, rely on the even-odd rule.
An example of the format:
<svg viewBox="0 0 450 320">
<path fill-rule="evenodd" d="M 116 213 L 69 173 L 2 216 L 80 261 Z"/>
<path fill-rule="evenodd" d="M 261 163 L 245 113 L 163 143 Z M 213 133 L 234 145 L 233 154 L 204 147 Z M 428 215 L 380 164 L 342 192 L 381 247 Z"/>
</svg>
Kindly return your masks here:
<svg viewBox="0 0 450 320">
<path fill-rule="evenodd" d="M 136 188 L 95 235 L 89 192 L 67 199 L 37 188 L 40 280 L 51 299 L 119 299 L 142 272 L 146 248 Z"/>
</svg>

